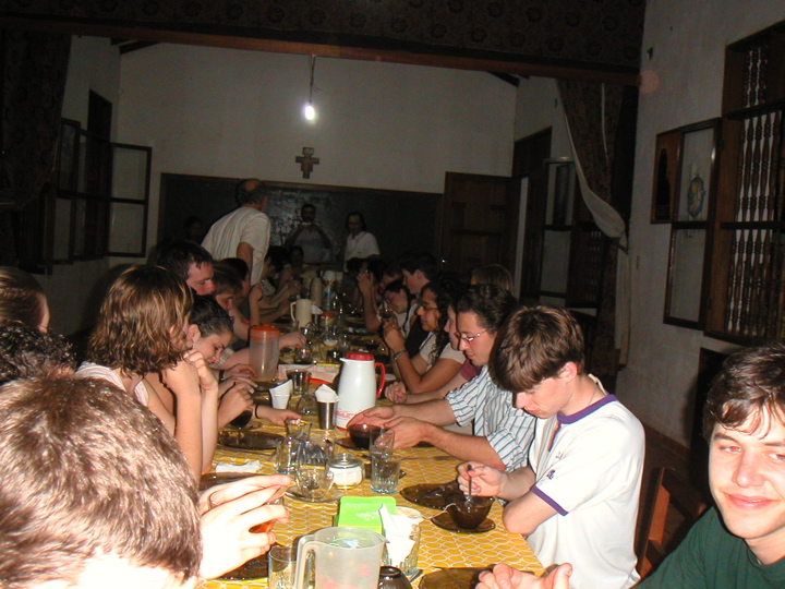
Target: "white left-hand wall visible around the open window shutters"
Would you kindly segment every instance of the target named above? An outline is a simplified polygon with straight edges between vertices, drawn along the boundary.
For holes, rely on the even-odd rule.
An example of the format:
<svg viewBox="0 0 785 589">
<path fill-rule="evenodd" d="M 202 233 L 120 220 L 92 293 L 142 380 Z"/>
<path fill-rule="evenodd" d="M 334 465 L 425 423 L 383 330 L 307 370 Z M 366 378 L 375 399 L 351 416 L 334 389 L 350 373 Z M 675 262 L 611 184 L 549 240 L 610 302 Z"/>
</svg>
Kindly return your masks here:
<svg viewBox="0 0 785 589">
<path fill-rule="evenodd" d="M 116 134 L 120 89 L 120 57 L 109 39 L 72 37 L 62 116 L 87 127 L 89 91 L 113 105 L 112 139 Z M 57 265 L 51 276 L 37 277 L 47 294 L 52 329 L 71 334 L 88 325 L 94 308 L 86 304 L 110 261 L 97 260 Z"/>
</svg>

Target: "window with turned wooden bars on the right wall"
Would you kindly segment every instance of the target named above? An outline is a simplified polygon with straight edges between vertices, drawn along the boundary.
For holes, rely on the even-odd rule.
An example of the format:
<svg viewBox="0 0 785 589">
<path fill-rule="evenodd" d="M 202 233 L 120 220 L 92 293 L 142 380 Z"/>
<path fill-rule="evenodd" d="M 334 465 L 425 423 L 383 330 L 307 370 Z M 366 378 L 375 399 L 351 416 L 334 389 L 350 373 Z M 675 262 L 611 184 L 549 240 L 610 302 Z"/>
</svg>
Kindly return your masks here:
<svg viewBox="0 0 785 589">
<path fill-rule="evenodd" d="M 727 47 L 706 332 L 785 337 L 785 23 Z"/>
</svg>

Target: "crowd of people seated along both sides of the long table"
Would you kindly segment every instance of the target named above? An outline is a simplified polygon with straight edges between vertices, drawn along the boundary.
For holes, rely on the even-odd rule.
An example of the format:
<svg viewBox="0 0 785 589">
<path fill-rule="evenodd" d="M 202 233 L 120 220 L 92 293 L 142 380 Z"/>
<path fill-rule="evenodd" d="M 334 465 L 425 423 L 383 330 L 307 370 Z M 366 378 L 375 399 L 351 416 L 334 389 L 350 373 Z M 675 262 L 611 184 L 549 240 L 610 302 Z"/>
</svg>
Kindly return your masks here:
<svg viewBox="0 0 785 589">
<path fill-rule="evenodd" d="M 247 530 L 286 522 L 286 507 L 265 503 L 289 477 L 202 495 L 196 483 L 218 431 L 240 413 L 299 417 L 254 406 L 243 342 L 251 325 L 288 313 L 314 252 L 329 248 L 312 212 L 301 215 L 295 237 L 311 233 L 311 250 L 292 240 L 287 265 L 288 252 L 270 248 L 253 281 L 243 260 L 214 261 L 186 241 L 124 269 L 78 359 L 48 329 L 40 284 L 0 267 L 0 588 L 97 587 L 108 570 L 129 587 L 191 587 L 275 542 Z M 785 346 L 725 363 L 705 408 L 716 507 L 640 581 L 641 423 L 588 371 L 568 311 L 519 304 L 497 265 L 461 278 L 438 275 L 427 253 L 389 265 L 373 254 L 348 261 L 341 300 L 383 339 L 397 377 L 385 390 L 391 405 L 350 423 L 394 430 L 397 448 L 426 442 L 462 460 L 460 488 L 502 500 L 507 531 L 552 568 L 536 577 L 499 563 L 479 587 L 785 584 Z M 303 342 L 294 330 L 280 346 Z"/>
</svg>

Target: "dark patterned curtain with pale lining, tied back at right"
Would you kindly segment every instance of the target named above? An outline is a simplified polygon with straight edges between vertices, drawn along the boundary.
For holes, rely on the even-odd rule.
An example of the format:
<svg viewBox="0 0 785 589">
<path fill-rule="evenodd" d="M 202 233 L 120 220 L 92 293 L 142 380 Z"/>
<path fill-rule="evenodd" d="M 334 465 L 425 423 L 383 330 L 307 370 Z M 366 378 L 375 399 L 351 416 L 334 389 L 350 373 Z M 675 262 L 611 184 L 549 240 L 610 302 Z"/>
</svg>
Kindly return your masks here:
<svg viewBox="0 0 785 589">
<path fill-rule="evenodd" d="M 587 183 L 617 211 L 626 211 L 627 207 L 614 203 L 612 194 L 616 131 L 624 87 L 605 85 L 603 88 L 600 83 L 560 80 L 558 88 Z M 619 368 L 619 350 L 614 341 L 617 254 L 618 240 L 613 240 L 603 266 L 601 302 L 592 340 L 592 372 L 611 381 L 616 377 Z"/>
</svg>

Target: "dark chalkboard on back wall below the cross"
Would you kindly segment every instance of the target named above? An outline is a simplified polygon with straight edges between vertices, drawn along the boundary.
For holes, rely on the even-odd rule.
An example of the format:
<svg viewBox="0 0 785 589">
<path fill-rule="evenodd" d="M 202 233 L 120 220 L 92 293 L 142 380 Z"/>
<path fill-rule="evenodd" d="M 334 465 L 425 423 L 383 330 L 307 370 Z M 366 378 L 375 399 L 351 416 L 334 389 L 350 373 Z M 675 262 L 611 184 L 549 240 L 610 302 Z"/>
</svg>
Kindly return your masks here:
<svg viewBox="0 0 785 589">
<path fill-rule="evenodd" d="M 161 173 L 158 240 L 182 239 L 184 223 L 198 217 L 205 230 L 237 207 L 234 189 L 241 178 Z M 392 261 L 407 250 L 437 253 L 440 194 L 394 190 L 358 189 L 318 184 L 267 182 L 270 199 L 267 216 L 270 244 L 282 245 L 300 219 L 305 203 L 316 206 L 316 223 L 340 247 L 346 217 L 360 211 L 367 230 L 376 237 L 382 257 Z"/>
</svg>

